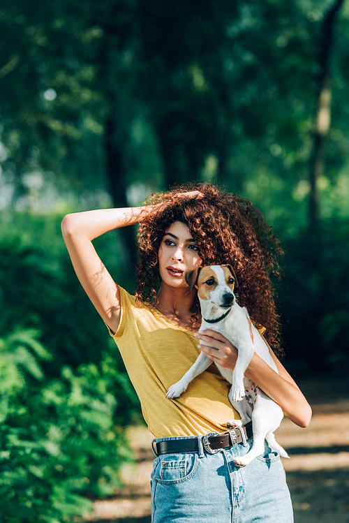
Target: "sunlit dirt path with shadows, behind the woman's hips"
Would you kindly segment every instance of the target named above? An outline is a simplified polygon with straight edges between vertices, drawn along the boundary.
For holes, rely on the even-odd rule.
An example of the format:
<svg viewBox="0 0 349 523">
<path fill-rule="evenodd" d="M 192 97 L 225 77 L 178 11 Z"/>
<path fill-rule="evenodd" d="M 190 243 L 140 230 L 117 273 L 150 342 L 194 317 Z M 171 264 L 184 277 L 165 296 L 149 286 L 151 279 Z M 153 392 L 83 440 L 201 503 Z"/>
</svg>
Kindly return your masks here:
<svg viewBox="0 0 349 523">
<path fill-rule="evenodd" d="M 276 439 L 292 459 L 283 459 L 295 509 L 295 523 L 349 523 L 349 381 L 301 383 L 313 407 L 307 429 L 284 419 Z M 334 391 L 328 402 L 326 391 Z M 128 436 L 135 467 L 125 466 L 125 487 L 112 499 L 96 501 L 86 522 L 149 523 L 151 434 L 133 427 Z"/>
</svg>

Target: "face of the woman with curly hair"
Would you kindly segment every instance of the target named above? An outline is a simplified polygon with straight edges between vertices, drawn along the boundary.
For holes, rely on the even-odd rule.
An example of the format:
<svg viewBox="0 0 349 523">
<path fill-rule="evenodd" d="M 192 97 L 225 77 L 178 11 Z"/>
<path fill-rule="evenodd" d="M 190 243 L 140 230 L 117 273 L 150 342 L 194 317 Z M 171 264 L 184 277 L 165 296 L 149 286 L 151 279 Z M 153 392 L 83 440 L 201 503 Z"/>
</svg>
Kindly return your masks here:
<svg viewBox="0 0 349 523">
<path fill-rule="evenodd" d="M 163 282 L 171 287 L 186 287 L 183 273 L 202 264 L 189 229 L 181 221 L 174 221 L 166 230 L 158 249 L 158 265 Z"/>
</svg>

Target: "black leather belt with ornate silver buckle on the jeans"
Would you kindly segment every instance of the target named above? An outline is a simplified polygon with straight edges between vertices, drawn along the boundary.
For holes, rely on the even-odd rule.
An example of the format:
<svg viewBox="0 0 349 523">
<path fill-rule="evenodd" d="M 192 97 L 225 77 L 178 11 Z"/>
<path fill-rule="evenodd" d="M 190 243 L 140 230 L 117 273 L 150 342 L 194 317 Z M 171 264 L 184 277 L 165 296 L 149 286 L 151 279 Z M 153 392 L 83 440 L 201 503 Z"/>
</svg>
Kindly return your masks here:
<svg viewBox="0 0 349 523">
<path fill-rule="evenodd" d="M 216 454 L 216 452 L 221 452 L 223 448 L 229 448 L 238 443 L 246 443 L 252 436 L 252 423 L 248 423 L 244 427 L 235 427 L 227 432 L 205 434 L 205 436 L 202 436 L 202 445 L 209 454 Z M 153 447 L 153 450 L 156 456 L 177 452 L 198 452 L 199 441 L 197 437 L 168 439 L 156 442 L 156 448 Z"/>
</svg>

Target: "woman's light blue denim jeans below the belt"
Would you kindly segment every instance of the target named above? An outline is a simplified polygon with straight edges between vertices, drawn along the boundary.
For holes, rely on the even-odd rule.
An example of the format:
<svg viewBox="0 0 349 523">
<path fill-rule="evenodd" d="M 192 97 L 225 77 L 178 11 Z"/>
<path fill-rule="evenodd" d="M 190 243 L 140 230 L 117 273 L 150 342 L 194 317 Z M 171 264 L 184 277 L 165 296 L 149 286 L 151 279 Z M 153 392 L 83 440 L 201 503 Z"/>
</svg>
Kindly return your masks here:
<svg viewBox="0 0 349 523">
<path fill-rule="evenodd" d="M 154 441 L 183 439 L 158 438 Z M 265 442 L 265 455 L 239 468 L 236 456 L 248 445 L 217 454 L 163 454 L 151 474 L 151 523 L 292 523 L 293 513 L 285 471 L 278 454 Z"/>
</svg>

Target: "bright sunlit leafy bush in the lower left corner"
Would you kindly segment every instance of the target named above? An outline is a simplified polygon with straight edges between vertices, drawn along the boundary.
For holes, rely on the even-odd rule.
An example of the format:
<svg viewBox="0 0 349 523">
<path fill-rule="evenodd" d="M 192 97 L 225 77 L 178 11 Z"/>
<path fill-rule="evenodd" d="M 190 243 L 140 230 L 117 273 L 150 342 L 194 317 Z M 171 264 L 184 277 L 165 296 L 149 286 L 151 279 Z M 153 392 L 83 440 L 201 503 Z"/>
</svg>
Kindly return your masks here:
<svg viewBox="0 0 349 523">
<path fill-rule="evenodd" d="M 91 509 L 87 494 L 113 492 L 131 458 L 115 425 L 114 390 L 125 380 L 107 355 L 100 367 L 66 366 L 45 378 L 38 360 L 49 353 L 33 330 L 0 339 L 0 347 L 0 521 L 69 522 Z"/>
</svg>

